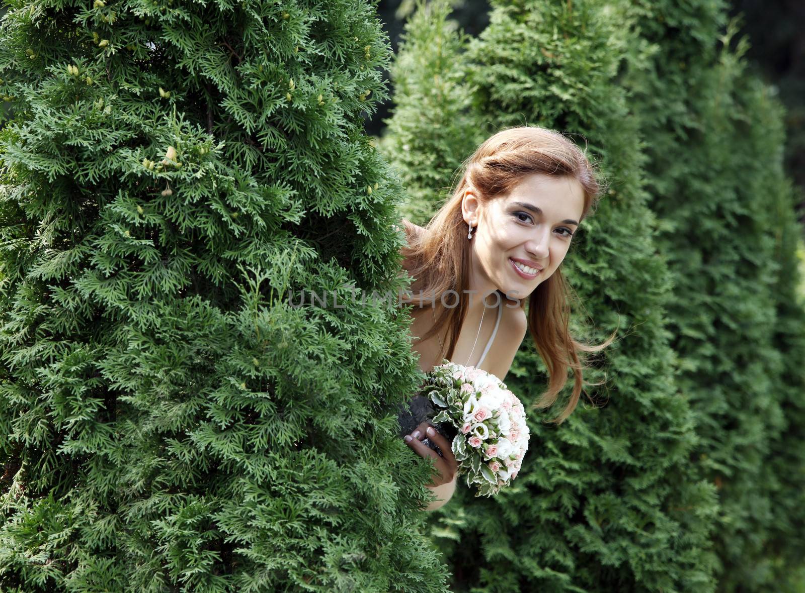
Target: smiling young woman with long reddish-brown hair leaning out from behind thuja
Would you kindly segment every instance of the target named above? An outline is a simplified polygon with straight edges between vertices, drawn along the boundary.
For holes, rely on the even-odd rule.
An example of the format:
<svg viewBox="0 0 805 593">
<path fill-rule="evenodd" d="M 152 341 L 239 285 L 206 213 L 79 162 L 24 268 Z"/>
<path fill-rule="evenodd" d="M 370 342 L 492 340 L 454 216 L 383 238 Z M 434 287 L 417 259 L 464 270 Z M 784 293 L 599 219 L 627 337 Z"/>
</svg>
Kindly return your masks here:
<svg viewBox="0 0 805 593">
<path fill-rule="evenodd" d="M 423 372 L 446 358 L 504 380 L 530 331 L 550 377 L 535 408 L 555 402 L 568 367 L 573 369 L 570 401 L 554 420 L 564 422 L 582 391 L 583 353 L 602 350 L 614 338 L 588 346 L 568 333 L 566 301 L 572 294 L 559 269 L 600 195 L 596 170 L 572 141 L 521 126 L 478 147 L 464 163 L 452 197 L 427 227 L 403 220 L 409 243 L 402 249 L 403 269 L 415 280 L 411 298 L 403 302 L 419 307 L 412 313 L 411 334 Z M 415 399 L 427 404 L 421 396 Z M 427 510 L 438 509 L 456 488 L 451 442 L 427 422 L 405 440 L 420 456 L 436 460 L 428 488 L 437 500 Z"/>
</svg>

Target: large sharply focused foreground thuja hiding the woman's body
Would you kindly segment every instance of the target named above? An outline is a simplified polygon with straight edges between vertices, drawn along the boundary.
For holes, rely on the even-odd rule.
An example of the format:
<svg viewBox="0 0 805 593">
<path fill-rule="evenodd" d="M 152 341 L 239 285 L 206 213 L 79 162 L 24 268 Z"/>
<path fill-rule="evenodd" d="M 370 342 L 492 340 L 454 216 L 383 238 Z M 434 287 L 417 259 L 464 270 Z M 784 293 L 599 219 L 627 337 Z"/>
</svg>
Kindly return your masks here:
<svg viewBox="0 0 805 593">
<path fill-rule="evenodd" d="M 403 288 L 389 57 L 361 0 L 10 2 L 4 591 L 444 590 L 409 321 L 350 303 Z"/>
</svg>

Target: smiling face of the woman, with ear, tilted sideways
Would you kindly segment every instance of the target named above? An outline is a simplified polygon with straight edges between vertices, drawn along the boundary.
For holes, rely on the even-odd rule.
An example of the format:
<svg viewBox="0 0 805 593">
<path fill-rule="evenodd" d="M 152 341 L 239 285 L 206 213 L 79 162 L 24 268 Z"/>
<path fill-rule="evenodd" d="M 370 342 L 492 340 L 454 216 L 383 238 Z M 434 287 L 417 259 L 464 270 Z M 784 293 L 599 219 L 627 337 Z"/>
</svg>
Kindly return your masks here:
<svg viewBox="0 0 805 593">
<path fill-rule="evenodd" d="M 584 190 L 574 178 L 535 173 L 485 205 L 467 190 L 461 210 L 464 222 L 473 224 L 473 284 L 524 299 L 567 255 L 584 210 Z M 534 269 L 518 270 L 514 260 L 542 269 L 536 275 L 529 273 Z"/>
</svg>

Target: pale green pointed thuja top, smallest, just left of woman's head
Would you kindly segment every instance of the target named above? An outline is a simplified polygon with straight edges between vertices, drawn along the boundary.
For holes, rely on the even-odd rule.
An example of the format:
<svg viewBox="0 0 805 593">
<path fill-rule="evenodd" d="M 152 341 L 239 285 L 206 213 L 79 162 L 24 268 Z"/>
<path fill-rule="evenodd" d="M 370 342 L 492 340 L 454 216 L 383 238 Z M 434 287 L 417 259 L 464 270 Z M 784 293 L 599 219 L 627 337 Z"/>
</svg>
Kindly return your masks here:
<svg viewBox="0 0 805 593">
<path fill-rule="evenodd" d="M 461 162 L 486 139 L 471 110 L 466 64 L 469 37 L 448 20 L 448 2 L 419 4 L 406 23 L 390 67 L 394 113 L 379 149 L 406 189 L 402 214 L 427 223 Z"/>
</svg>

